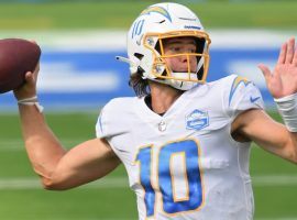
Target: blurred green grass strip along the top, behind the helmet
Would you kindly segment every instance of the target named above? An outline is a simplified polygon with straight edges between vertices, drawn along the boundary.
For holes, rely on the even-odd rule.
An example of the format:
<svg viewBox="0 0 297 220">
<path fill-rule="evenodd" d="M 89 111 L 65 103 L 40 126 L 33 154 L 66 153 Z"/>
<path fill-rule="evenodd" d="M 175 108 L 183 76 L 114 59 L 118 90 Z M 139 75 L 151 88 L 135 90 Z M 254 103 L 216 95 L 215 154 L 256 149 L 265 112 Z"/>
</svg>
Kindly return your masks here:
<svg viewBox="0 0 297 220">
<path fill-rule="evenodd" d="M 0 30 L 128 29 L 146 1 L 2 3 Z M 297 1 L 177 1 L 198 13 L 207 29 L 293 29 Z"/>
</svg>

